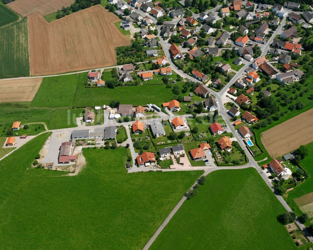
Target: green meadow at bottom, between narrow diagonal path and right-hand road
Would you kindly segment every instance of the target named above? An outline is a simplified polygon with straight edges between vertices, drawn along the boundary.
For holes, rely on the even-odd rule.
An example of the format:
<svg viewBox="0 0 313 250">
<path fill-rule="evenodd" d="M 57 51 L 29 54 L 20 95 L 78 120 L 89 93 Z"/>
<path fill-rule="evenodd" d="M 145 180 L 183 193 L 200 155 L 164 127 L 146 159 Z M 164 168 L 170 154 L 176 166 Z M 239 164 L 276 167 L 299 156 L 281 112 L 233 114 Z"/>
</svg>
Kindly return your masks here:
<svg viewBox="0 0 313 250">
<path fill-rule="evenodd" d="M 280 249 L 297 249 L 276 219 L 286 210 L 255 169 L 219 170 L 206 178 L 149 249 L 273 249 L 277 235 Z"/>
</svg>

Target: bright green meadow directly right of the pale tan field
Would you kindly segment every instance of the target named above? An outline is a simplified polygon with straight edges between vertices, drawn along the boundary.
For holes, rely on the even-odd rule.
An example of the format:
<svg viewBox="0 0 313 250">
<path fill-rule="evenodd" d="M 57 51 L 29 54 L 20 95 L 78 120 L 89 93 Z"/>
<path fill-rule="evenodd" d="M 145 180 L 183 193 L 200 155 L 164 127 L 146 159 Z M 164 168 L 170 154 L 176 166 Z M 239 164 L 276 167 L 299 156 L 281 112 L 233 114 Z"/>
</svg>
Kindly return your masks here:
<svg viewBox="0 0 313 250">
<path fill-rule="evenodd" d="M 31 102 L 31 106 L 34 107 L 72 106 L 75 95 L 75 89 L 80 84 L 82 84 L 85 89 L 86 78 L 87 73 L 45 77 L 38 89 L 36 96 Z M 90 105 L 86 106 L 94 105 L 96 104 L 90 103 Z"/>
</svg>

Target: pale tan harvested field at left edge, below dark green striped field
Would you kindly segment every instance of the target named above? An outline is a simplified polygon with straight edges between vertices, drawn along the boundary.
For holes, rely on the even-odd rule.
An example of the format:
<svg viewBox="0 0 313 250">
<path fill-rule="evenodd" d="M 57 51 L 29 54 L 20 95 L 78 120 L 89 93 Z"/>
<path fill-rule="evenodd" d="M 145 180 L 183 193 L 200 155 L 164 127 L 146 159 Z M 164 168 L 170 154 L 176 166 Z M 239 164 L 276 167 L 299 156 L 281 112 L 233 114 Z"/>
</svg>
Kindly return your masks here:
<svg viewBox="0 0 313 250">
<path fill-rule="evenodd" d="M 0 81 L 0 102 L 23 102 L 33 100 L 42 78 Z"/>
</svg>

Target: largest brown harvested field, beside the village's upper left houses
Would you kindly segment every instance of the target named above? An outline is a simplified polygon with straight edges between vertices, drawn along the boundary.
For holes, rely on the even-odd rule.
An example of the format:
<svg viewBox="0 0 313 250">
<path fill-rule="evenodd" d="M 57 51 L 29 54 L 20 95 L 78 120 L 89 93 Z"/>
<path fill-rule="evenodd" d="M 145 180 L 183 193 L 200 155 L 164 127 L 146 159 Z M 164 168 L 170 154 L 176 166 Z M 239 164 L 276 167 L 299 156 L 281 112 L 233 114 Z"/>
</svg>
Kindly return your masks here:
<svg viewBox="0 0 313 250">
<path fill-rule="evenodd" d="M 120 19 L 101 5 L 52 23 L 28 16 L 31 75 L 58 74 L 116 64 L 115 47 L 130 41 L 114 25 Z"/>
</svg>

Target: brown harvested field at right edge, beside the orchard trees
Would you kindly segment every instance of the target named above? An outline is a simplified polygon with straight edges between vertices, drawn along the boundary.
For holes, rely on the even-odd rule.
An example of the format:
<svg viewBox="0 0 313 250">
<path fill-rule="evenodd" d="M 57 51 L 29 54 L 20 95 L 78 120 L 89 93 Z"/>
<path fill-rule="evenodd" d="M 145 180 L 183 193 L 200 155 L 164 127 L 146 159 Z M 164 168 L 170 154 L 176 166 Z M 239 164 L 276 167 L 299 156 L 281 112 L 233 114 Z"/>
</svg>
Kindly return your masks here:
<svg viewBox="0 0 313 250">
<path fill-rule="evenodd" d="M 313 109 L 297 115 L 261 134 L 261 141 L 272 158 L 313 141 Z"/>
</svg>

